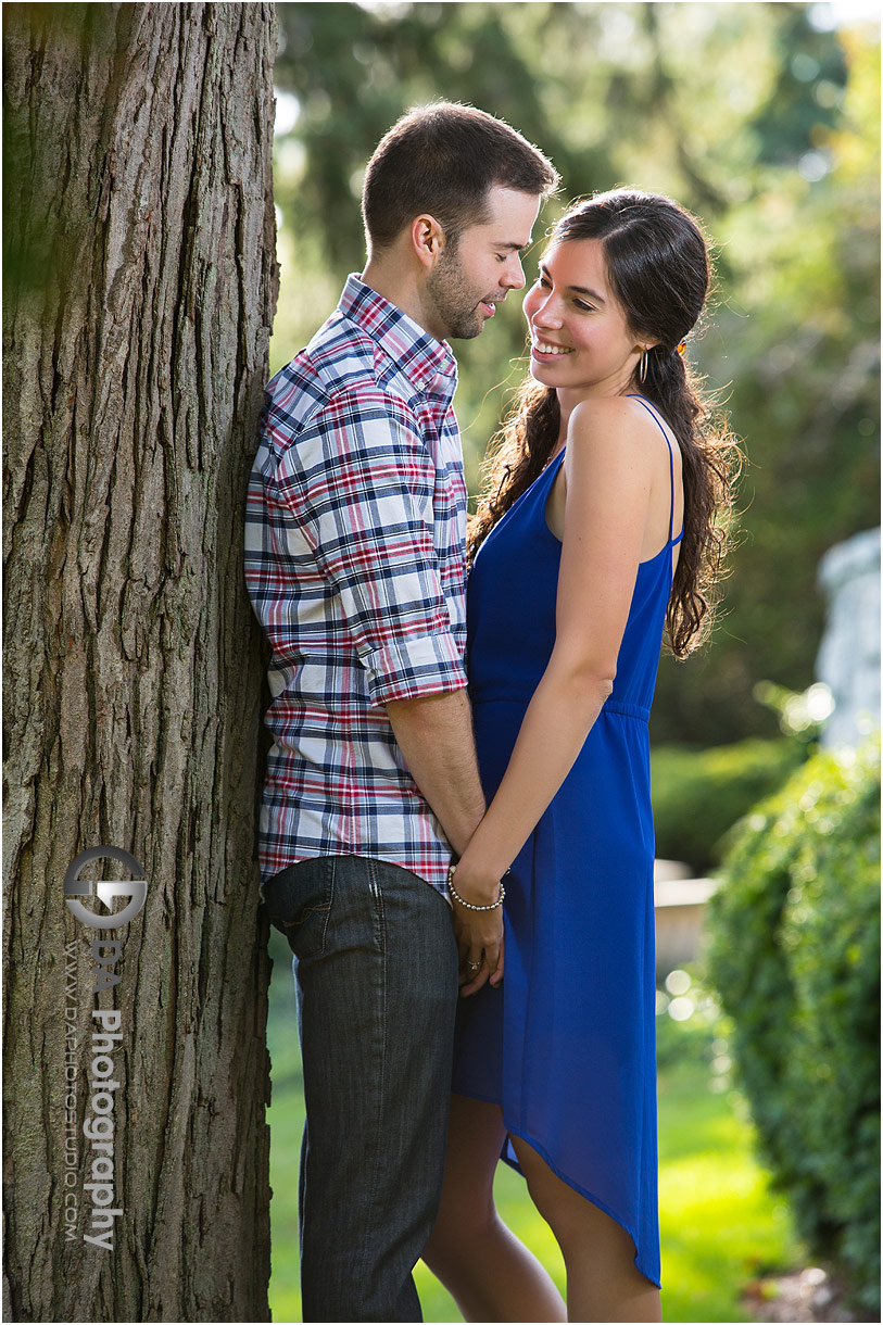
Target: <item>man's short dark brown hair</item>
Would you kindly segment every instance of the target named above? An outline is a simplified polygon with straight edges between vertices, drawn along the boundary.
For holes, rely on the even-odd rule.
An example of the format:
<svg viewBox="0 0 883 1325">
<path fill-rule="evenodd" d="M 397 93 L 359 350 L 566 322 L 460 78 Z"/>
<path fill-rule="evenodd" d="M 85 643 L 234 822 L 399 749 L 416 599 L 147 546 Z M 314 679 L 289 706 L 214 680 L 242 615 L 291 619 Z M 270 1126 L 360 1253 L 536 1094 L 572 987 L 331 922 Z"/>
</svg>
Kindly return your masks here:
<svg viewBox="0 0 883 1325">
<path fill-rule="evenodd" d="M 485 220 L 495 186 L 548 197 L 558 172 L 526 138 L 475 106 L 440 101 L 410 110 L 381 139 L 365 174 L 369 248 L 388 248 L 423 212 L 456 242 Z"/>
</svg>

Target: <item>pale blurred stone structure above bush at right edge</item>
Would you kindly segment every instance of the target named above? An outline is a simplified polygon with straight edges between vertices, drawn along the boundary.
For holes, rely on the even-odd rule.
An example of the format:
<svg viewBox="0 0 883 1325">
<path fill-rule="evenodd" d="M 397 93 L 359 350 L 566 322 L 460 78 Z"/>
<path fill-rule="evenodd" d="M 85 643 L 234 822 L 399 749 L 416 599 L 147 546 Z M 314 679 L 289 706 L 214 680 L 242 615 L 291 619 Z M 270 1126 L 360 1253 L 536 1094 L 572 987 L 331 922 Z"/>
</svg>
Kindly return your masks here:
<svg viewBox="0 0 883 1325">
<path fill-rule="evenodd" d="M 831 547 L 818 583 L 829 606 L 815 672 L 835 705 L 821 742 L 856 746 L 880 723 L 880 530 Z"/>
</svg>

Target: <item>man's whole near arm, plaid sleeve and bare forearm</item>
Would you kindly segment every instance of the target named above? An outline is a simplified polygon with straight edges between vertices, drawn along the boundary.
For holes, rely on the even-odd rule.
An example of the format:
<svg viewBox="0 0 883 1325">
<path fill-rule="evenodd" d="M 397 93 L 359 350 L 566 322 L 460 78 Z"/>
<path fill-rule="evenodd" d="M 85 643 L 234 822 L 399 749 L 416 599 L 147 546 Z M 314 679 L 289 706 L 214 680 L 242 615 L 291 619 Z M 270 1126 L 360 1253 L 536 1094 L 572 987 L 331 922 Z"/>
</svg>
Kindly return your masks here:
<svg viewBox="0 0 883 1325">
<path fill-rule="evenodd" d="M 402 401 L 361 384 L 313 421 L 321 448 L 282 473 L 407 768 L 460 853 L 484 812 L 461 644 L 434 541 L 436 470 Z"/>
</svg>

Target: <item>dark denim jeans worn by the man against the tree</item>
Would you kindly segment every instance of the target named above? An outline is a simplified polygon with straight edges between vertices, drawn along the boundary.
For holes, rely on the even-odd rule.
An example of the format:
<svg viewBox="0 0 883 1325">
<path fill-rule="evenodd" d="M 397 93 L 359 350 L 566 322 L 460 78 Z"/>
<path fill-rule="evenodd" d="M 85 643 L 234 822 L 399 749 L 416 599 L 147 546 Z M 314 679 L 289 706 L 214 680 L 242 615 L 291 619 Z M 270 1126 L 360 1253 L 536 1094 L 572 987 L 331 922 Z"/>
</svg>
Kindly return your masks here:
<svg viewBox="0 0 883 1325">
<path fill-rule="evenodd" d="M 289 865 L 264 897 L 297 958 L 304 1320 L 420 1321 L 457 1003 L 448 904 L 361 856 Z"/>
</svg>

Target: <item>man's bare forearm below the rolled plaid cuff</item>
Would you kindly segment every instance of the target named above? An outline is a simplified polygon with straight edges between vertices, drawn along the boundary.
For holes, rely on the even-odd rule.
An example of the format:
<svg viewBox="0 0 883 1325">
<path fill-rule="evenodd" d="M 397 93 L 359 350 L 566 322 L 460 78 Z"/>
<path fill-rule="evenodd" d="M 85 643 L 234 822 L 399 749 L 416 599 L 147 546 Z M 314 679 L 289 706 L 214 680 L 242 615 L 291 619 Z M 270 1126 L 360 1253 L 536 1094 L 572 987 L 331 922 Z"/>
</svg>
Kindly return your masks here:
<svg viewBox="0 0 883 1325">
<path fill-rule="evenodd" d="M 461 855 L 485 810 L 467 692 L 391 700 L 386 712 L 408 772 Z"/>
</svg>

